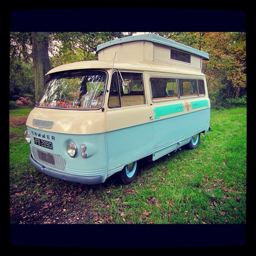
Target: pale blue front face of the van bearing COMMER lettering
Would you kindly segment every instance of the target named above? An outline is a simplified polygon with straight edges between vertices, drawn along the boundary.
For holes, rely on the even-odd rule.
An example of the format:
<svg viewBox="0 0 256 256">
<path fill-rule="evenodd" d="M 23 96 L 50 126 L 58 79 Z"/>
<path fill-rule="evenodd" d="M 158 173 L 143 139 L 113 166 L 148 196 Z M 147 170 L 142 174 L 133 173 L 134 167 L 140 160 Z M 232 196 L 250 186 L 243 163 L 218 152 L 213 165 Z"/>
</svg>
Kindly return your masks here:
<svg viewBox="0 0 256 256">
<path fill-rule="evenodd" d="M 36 159 L 41 165 L 58 170 L 62 173 L 82 176 L 101 176 L 102 182 L 105 180 L 108 163 L 106 159 L 105 133 L 88 135 L 61 134 L 42 131 L 31 127 L 28 127 L 28 131 L 31 134 L 30 147 L 34 159 L 36 158 L 35 154 L 33 154 L 33 147 L 45 153 L 59 155 L 65 159 L 66 162 L 65 168 L 61 170 Z M 54 140 L 52 140 L 52 136 Z M 36 145 L 34 138 L 51 141 L 53 143 L 53 150 Z M 66 147 L 69 141 L 73 141 L 78 147 L 78 155 L 75 158 L 70 157 L 67 153 Z M 82 143 L 87 145 L 87 158 L 82 158 L 80 155 L 80 145 Z"/>
</svg>

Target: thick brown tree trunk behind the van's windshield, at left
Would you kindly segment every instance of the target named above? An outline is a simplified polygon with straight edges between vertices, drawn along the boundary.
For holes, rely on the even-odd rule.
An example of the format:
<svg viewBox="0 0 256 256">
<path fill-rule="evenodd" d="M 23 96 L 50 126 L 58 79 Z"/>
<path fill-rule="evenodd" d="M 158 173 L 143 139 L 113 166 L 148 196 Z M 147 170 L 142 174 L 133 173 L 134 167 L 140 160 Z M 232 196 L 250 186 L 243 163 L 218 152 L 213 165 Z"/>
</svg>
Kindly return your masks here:
<svg viewBox="0 0 256 256">
<path fill-rule="evenodd" d="M 32 32 L 32 56 L 34 65 L 35 101 L 39 101 L 46 87 L 45 74 L 50 70 L 48 38 L 45 32 Z"/>
</svg>

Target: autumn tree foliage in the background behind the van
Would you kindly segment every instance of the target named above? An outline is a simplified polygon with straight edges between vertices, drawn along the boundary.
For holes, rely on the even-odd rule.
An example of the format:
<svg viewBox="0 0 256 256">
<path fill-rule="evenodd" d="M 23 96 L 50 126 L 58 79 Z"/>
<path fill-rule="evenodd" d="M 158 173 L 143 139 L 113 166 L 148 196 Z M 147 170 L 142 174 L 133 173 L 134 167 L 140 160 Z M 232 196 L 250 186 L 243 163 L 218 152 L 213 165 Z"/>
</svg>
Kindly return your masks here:
<svg viewBox="0 0 256 256">
<path fill-rule="evenodd" d="M 203 61 L 212 106 L 246 104 L 245 32 L 153 32 L 209 53 Z M 133 32 L 48 33 L 51 67 L 64 63 L 97 59 L 96 47 L 102 42 L 132 35 Z M 10 100 L 35 94 L 32 33 L 10 34 Z"/>
</svg>

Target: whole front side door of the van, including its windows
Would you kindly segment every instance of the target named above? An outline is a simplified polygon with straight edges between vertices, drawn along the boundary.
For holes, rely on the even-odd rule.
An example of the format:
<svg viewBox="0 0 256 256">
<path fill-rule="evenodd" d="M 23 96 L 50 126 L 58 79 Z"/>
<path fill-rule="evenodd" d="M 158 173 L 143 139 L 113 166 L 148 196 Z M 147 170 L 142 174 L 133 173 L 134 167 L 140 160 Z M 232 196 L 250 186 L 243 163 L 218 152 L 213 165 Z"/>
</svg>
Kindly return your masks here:
<svg viewBox="0 0 256 256">
<path fill-rule="evenodd" d="M 106 110 L 108 176 L 152 154 L 152 120 L 143 73 L 115 71 Z"/>
</svg>

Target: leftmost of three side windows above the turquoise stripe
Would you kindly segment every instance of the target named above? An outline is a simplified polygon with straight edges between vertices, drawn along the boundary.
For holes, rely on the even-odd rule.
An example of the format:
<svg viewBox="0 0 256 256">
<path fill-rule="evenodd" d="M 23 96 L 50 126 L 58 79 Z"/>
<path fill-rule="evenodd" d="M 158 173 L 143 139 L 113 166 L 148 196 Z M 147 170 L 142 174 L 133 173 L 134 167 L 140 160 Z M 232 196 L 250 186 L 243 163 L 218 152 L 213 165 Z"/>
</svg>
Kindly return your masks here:
<svg viewBox="0 0 256 256">
<path fill-rule="evenodd" d="M 175 78 L 151 77 L 152 99 L 178 98 Z"/>
</svg>

